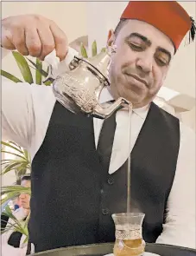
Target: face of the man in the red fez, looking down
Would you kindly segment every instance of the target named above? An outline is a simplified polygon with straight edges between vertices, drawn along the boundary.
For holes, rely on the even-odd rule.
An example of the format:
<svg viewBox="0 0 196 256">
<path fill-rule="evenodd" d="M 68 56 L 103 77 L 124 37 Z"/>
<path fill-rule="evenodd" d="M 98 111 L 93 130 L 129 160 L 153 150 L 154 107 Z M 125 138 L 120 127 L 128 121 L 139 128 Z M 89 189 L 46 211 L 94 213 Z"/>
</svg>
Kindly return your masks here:
<svg viewBox="0 0 196 256">
<path fill-rule="evenodd" d="M 111 95 L 126 98 L 134 108 L 152 102 L 174 56 L 168 36 L 149 23 L 129 20 L 109 43 L 117 45 L 111 56 Z"/>
</svg>

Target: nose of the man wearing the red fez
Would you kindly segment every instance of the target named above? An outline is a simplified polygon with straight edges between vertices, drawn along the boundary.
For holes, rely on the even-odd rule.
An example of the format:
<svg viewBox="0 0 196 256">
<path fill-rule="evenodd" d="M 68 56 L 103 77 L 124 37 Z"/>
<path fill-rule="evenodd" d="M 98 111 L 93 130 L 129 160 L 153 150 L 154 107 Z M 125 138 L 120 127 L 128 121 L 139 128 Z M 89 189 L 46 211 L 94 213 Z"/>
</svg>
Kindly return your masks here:
<svg viewBox="0 0 196 256">
<path fill-rule="evenodd" d="M 149 74 L 153 69 L 153 56 L 150 53 L 142 52 L 142 55 L 136 60 L 136 67 L 143 73 Z"/>
</svg>

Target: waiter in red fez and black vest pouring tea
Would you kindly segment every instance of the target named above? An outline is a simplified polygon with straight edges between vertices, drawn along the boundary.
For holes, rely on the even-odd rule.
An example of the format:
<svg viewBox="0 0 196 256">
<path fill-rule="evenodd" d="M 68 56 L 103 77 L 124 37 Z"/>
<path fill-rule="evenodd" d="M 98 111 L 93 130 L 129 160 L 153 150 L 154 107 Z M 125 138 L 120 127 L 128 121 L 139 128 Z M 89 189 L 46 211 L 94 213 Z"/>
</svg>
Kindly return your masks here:
<svg viewBox="0 0 196 256">
<path fill-rule="evenodd" d="M 5 49 L 41 59 L 56 49 L 65 67 L 75 54 L 47 18 L 13 16 L 2 24 Z M 182 39 L 194 32 L 179 3 L 132 2 L 108 42 L 117 53 L 102 102 L 123 96 L 134 106 L 131 207 L 145 213 L 147 242 L 196 247 L 194 134 L 152 102 Z M 32 156 L 35 252 L 113 241 L 111 213 L 126 211 L 128 111 L 103 122 L 73 115 L 51 87 L 3 82 L 2 123 L 3 137 Z"/>
</svg>

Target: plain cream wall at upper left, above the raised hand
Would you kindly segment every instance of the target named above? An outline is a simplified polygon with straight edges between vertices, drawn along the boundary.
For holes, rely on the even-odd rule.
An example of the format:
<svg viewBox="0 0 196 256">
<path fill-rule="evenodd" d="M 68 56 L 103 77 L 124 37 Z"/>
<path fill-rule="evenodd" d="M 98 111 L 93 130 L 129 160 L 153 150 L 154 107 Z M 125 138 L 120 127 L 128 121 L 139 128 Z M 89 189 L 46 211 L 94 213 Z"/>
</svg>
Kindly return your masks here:
<svg viewBox="0 0 196 256">
<path fill-rule="evenodd" d="M 86 2 L 3 2 L 2 17 L 22 14 L 46 16 L 66 32 L 69 42 L 87 34 Z M 2 69 L 22 78 L 13 56 L 3 58 Z"/>
</svg>

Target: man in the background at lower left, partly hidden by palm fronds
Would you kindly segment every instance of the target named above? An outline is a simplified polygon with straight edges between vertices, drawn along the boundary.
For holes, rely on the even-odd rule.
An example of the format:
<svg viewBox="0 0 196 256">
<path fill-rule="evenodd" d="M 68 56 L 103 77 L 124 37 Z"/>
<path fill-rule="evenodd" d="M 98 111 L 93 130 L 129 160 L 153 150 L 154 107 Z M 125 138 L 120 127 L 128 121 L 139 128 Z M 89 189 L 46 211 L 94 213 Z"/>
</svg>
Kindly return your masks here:
<svg viewBox="0 0 196 256">
<path fill-rule="evenodd" d="M 22 187 L 31 187 L 30 176 L 25 175 L 21 179 Z M 29 194 L 20 194 L 22 207 L 18 208 L 13 215 L 16 217 L 16 220 L 22 221 L 26 220 L 28 214 L 30 213 L 30 195 Z M 14 220 L 8 220 L 7 226 L 11 226 L 15 223 Z M 27 251 L 27 243 L 24 243 L 26 236 L 19 231 L 15 231 L 13 228 L 9 228 L 6 233 L 3 233 L 1 236 L 1 245 L 2 245 L 2 256 L 15 255 L 21 256 L 25 255 Z"/>
</svg>

